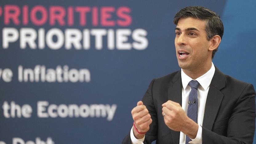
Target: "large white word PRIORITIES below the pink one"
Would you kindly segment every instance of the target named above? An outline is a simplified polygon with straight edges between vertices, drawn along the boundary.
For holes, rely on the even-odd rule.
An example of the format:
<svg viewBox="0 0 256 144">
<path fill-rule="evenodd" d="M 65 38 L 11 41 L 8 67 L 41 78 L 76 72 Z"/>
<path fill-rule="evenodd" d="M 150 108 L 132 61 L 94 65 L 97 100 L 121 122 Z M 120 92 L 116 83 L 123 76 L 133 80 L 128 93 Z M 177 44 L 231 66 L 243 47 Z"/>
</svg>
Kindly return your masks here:
<svg viewBox="0 0 256 144">
<path fill-rule="evenodd" d="M 46 31 L 44 28 L 5 27 L 2 30 L 2 47 L 13 47 L 12 43 L 19 42 L 21 49 L 45 49 L 52 50 L 64 47 L 66 50 L 89 50 L 95 47 L 102 50 L 145 50 L 148 46 L 147 31 L 144 29 L 65 29 L 58 28 Z M 92 43 L 91 43 L 92 42 Z M 94 43 L 93 43 L 94 42 Z"/>
</svg>

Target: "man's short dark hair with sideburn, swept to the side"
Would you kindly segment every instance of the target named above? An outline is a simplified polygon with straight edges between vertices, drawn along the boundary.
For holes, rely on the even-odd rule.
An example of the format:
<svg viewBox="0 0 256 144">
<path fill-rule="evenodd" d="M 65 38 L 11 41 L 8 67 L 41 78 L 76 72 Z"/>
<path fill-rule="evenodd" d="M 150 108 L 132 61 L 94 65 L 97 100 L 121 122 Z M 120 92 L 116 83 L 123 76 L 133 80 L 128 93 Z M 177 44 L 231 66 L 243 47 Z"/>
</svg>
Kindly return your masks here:
<svg viewBox="0 0 256 144">
<path fill-rule="evenodd" d="M 205 7 L 185 7 L 181 9 L 177 14 L 175 14 L 173 23 L 177 25 L 180 18 L 196 18 L 205 21 L 205 30 L 207 35 L 206 39 L 208 41 L 210 41 L 210 39 L 213 38 L 214 35 L 219 35 L 221 38 L 223 36 L 224 27 L 219 15 Z M 213 50 L 212 58 L 214 57 L 217 49 Z"/>
</svg>

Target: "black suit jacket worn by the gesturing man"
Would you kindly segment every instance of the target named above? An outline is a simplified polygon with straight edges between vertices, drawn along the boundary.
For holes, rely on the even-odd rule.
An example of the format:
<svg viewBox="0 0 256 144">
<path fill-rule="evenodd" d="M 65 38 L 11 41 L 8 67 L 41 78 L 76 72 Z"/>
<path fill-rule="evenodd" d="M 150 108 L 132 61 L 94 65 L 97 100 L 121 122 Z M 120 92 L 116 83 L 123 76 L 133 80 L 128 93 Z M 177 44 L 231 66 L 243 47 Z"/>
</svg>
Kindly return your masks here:
<svg viewBox="0 0 256 144">
<path fill-rule="evenodd" d="M 169 129 L 163 120 L 162 104 L 168 100 L 182 105 L 181 71 L 153 79 L 142 102 L 153 122 L 144 144 L 178 144 L 180 132 Z M 253 85 L 222 74 L 216 67 L 206 99 L 202 125 L 203 144 L 251 144 L 255 130 Z M 123 144 L 129 144 L 130 133 Z"/>
</svg>

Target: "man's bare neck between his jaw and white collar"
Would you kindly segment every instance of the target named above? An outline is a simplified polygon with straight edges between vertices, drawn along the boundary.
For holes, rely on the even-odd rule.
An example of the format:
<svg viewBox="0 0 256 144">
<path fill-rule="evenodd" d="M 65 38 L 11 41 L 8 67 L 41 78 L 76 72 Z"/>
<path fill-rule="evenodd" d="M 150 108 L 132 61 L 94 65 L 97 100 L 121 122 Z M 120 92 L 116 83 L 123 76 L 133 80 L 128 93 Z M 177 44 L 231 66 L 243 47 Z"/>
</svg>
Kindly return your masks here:
<svg viewBox="0 0 256 144">
<path fill-rule="evenodd" d="M 201 77 L 202 75 L 204 75 L 207 71 L 209 71 L 211 66 L 212 66 L 212 62 L 210 62 L 200 68 L 196 68 L 196 69 L 192 69 L 192 70 L 184 70 L 184 69 L 182 69 L 182 70 L 190 78 L 197 79 L 197 78 Z"/>
</svg>

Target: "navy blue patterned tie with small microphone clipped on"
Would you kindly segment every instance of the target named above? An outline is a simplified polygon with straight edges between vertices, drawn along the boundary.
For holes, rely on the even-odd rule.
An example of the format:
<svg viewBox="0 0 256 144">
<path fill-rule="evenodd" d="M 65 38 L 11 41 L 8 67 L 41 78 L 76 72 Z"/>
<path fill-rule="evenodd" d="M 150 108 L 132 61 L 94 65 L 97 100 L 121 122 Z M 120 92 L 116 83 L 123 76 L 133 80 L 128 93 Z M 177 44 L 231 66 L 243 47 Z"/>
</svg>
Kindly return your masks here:
<svg viewBox="0 0 256 144">
<path fill-rule="evenodd" d="M 197 108 L 198 108 L 198 98 L 197 98 L 197 89 L 200 85 L 198 81 L 190 81 L 189 86 L 191 87 L 191 91 L 188 97 L 188 111 L 187 116 L 192 119 L 195 123 L 197 123 Z M 190 142 L 191 139 L 186 135 L 186 144 Z"/>
</svg>

